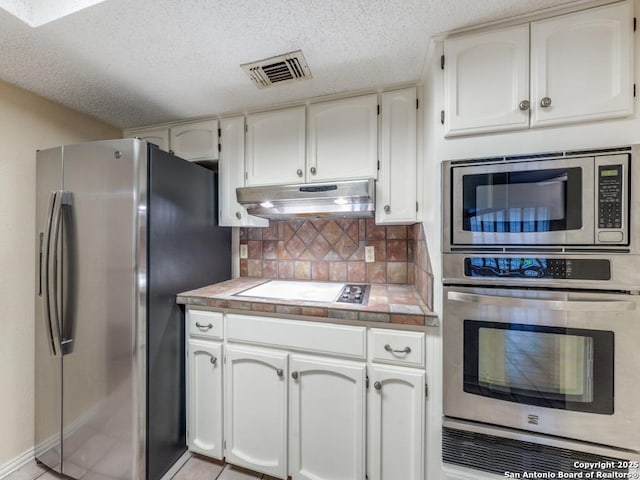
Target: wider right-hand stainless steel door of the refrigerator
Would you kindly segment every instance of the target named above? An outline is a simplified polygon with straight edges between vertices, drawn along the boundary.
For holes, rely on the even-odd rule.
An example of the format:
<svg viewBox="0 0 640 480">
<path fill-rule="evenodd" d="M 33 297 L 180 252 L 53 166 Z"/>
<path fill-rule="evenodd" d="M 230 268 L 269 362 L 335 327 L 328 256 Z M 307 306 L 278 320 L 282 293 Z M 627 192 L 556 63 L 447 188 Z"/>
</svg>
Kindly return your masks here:
<svg viewBox="0 0 640 480">
<path fill-rule="evenodd" d="M 146 229 L 146 144 L 66 146 L 63 171 L 71 206 L 63 216 L 62 473 L 144 478 L 136 339 L 144 338 L 137 266 L 146 252 L 137 245 Z"/>
</svg>

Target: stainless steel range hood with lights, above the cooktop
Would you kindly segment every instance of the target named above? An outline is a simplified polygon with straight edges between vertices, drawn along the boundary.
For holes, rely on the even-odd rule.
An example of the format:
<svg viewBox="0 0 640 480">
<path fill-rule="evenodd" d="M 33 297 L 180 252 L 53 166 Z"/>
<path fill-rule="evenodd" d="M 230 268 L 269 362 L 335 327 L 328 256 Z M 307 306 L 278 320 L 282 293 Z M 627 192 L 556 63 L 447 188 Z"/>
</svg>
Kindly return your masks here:
<svg viewBox="0 0 640 480">
<path fill-rule="evenodd" d="M 375 181 L 349 180 L 236 188 L 238 203 L 250 215 L 292 217 L 373 217 Z"/>
</svg>

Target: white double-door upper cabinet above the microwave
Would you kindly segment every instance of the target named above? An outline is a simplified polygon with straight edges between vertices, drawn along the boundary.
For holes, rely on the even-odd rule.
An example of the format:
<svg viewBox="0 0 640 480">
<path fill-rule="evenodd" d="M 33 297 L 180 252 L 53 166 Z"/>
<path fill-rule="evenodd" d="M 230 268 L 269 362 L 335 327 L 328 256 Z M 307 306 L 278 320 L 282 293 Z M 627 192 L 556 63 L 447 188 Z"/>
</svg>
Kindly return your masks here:
<svg viewBox="0 0 640 480">
<path fill-rule="evenodd" d="M 444 60 L 448 137 L 630 115 L 633 3 L 452 37 Z"/>
</svg>

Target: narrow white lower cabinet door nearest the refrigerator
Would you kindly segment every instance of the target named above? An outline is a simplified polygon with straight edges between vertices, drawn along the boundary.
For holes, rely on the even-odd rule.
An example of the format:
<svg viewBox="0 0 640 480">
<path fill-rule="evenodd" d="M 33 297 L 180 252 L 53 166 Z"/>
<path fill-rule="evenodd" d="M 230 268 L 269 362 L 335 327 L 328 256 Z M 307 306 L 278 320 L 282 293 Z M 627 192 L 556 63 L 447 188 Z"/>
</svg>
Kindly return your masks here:
<svg viewBox="0 0 640 480">
<path fill-rule="evenodd" d="M 189 450 L 222 459 L 222 344 L 189 340 L 187 349 Z"/>
</svg>

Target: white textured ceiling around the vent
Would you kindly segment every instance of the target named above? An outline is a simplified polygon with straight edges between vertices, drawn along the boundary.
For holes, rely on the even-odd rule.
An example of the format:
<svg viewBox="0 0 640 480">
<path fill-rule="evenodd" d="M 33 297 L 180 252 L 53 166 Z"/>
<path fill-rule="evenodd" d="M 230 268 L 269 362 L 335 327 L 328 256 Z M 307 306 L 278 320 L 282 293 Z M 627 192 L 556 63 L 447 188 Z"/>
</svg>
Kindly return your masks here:
<svg viewBox="0 0 640 480">
<path fill-rule="evenodd" d="M 119 127 L 418 80 L 436 34 L 567 0 L 106 0 L 32 28 L 0 8 L 0 78 Z M 240 64 L 302 49 L 313 79 Z"/>
</svg>

